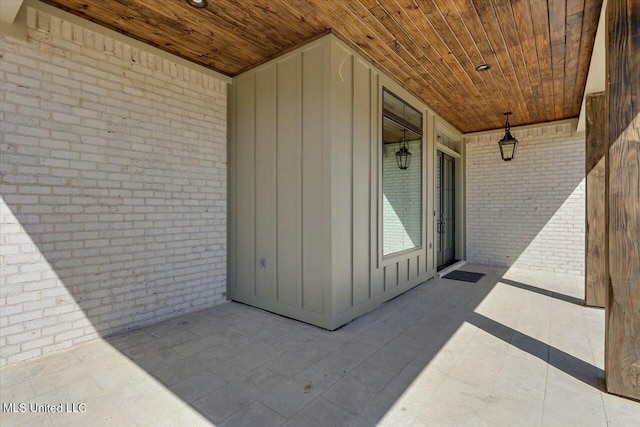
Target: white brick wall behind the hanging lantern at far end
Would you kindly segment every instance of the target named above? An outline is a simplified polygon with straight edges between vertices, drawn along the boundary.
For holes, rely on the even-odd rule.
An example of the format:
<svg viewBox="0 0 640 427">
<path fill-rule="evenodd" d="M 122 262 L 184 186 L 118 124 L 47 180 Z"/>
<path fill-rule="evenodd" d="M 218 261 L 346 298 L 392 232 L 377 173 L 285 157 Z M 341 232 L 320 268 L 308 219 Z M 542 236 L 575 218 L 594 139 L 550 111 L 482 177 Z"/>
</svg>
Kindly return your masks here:
<svg viewBox="0 0 640 427">
<path fill-rule="evenodd" d="M 584 136 L 571 123 L 517 130 L 504 162 L 504 131 L 466 137 L 467 259 L 584 274 Z"/>
</svg>

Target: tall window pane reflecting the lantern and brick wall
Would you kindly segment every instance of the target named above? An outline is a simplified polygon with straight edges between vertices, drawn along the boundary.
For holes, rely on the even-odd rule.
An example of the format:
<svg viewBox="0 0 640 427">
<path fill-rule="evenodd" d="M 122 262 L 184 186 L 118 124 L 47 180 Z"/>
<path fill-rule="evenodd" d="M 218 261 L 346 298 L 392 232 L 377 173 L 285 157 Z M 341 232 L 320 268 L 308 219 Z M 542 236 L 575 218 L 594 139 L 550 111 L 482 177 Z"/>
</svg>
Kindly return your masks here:
<svg viewBox="0 0 640 427">
<path fill-rule="evenodd" d="M 422 114 L 389 92 L 383 99 L 382 239 L 383 254 L 389 255 L 422 245 Z M 403 145 L 411 153 L 407 169 L 399 167 L 396 156 Z"/>
</svg>

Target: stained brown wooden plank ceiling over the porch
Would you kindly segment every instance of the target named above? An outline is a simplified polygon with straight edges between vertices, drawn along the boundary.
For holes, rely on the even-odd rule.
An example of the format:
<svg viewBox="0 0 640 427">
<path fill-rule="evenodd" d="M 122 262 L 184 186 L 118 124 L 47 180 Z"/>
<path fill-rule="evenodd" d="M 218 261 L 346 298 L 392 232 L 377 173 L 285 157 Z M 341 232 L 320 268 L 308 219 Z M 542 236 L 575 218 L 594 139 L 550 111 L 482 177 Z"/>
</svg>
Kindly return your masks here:
<svg viewBox="0 0 640 427">
<path fill-rule="evenodd" d="M 577 117 L 602 0 L 46 0 L 235 76 L 329 31 L 462 132 Z M 478 72 L 475 67 L 489 64 Z"/>
</svg>

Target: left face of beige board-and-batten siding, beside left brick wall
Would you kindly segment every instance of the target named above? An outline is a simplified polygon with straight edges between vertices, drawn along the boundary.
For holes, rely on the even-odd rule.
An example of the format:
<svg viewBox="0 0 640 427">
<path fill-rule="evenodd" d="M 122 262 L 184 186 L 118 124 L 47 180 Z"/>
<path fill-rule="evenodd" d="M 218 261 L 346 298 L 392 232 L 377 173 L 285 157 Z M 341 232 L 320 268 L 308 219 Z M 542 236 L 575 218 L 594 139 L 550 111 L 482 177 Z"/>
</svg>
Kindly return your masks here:
<svg viewBox="0 0 640 427">
<path fill-rule="evenodd" d="M 312 43 L 236 77 L 229 92 L 228 297 L 325 327 L 328 53 Z"/>
</svg>

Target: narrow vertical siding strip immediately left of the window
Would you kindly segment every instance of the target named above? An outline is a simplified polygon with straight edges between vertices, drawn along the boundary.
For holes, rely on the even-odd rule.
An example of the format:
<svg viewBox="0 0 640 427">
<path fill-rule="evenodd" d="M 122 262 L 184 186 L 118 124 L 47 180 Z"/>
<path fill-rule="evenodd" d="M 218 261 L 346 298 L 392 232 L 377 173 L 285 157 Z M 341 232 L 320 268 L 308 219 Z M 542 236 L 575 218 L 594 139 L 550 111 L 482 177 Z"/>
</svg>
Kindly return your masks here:
<svg viewBox="0 0 640 427">
<path fill-rule="evenodd" d="M 378 88 L 379 75 L 377 72 L 371 72 L 370 81 L 370 94 L 371 94 L 371 107 L 369 115 L 371 117 L 371 133 L 370 133 L 370 209 L 369 214 L 371 221 L 371 237 L 369 239 L 371 248 L 371 298 L 380 295 L 384 292 L 384 269 L 378 264 L 379 247 L 378 247 L 378 223 L 379 223 L 379 175 L 378 175 L 378 162 L 380 161 L 380 152 L 382 151 L 382 141 L 380 138 L 380 91 Z"/>
</svg>

